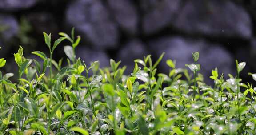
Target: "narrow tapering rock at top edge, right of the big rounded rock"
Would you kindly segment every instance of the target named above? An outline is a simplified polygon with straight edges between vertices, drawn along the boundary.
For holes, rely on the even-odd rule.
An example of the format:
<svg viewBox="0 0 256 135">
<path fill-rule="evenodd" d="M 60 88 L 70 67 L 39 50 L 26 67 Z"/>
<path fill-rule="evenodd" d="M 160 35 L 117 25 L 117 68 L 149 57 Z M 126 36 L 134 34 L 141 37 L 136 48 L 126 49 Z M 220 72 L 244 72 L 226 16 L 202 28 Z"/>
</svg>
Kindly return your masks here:
<svg viewBox="0 0 256 135">
<path fill-rule="evenodd" d="M 120 27 L 131 34 L 137 32 L 138 13 L 131 0 L 108 0 L 108 5 Z"/>
</svg>

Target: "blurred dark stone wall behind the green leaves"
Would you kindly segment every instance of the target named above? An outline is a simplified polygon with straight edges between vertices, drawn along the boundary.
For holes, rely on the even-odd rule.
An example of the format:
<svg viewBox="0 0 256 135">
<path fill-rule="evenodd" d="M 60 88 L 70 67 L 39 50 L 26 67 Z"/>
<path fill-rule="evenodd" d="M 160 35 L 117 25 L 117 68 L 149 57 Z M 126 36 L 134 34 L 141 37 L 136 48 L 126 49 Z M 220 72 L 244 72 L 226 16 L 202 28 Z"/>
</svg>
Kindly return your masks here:
<svg viewBox="0 0 256 135">
<path fill-rule="evenodd" d="M 192 63 L 192 52 L 200 52 L 204 77 L 218 67 L 235 75 L 235 59 L 246 62 L 242 72 L 256 72 L 256 0 L 0 0 L 0 57 L 7 60 L 5 72 L 16 68 L 13 53 L 19 45 L 24 56 L 38 59 L 32 51 L 48 52 L 43 32 L 71 32 L 81 36 L 77 57 L 87 64 L 121 60 L 127 72 L 133 60 L 152 54 L 157 60 L 165 52 L 158 71 L 168 73 L 168 59 L 176 67 Z M 64 42 L 54 59 L 64 55 Z M 208 77 L 206 77 L 208 78 Z M 208 80 L 208 79 L 207 79 Z"/>
</svg>

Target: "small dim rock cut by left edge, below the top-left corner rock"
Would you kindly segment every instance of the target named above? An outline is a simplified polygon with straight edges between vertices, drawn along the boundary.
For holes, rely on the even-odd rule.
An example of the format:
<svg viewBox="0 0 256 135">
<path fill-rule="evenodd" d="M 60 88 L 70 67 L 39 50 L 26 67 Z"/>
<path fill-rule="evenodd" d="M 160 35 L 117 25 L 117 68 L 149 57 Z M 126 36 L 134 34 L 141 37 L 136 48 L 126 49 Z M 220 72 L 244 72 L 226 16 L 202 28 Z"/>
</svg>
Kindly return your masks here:
<svg viewBox="0 0 256 135">
<path fill-rule="evenodd" d="M 19 31 L 17 20 L 14 16 L 0 14 L 0 38 L 4 41 L 10 40 Z"/>
</svg>

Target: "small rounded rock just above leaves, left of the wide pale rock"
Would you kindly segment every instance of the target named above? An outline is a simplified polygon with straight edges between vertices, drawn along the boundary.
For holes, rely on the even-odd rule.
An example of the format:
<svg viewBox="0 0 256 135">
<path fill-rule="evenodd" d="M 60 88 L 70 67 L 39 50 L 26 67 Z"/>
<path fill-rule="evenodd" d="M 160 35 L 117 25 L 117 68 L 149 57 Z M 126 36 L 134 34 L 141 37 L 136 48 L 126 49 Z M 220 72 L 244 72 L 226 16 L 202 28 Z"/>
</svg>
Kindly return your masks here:
<svg viewBox="0 0 256 135">
<path fill-rule="evenodd" d="M 132 73 L 134 68 L 134 60 L 135 59 L 143 59 L 143 56 L 149 54 L 148 49 L 144 45 L 144 43 L 140 40 L 131 40 L 127 44 L 124 45 L 123 48 L 117 54 L 116 60 L 121 60 L 121 65 L 127 66 L 125 70 L 126 74 Z"/>
</svg>

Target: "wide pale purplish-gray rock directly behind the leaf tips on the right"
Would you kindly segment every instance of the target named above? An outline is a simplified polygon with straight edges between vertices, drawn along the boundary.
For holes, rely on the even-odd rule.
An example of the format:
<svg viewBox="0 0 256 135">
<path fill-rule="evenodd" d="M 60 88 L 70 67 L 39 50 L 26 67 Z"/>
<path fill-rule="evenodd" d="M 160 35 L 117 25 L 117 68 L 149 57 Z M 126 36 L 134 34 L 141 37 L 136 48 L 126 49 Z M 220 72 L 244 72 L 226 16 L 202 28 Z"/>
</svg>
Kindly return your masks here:
<svg viewBox="0 0 256 135">
<path fill-rule="evenodd" d="M 203 73 L 206 82 L 209 82 L 208 76 L 212 69 L 218 68 L 219 74 L 233 73 L 234 59 L 232 55 L 219 44 L 208 43 L 204 40 L 192 40 L 182 37 L 163 37 L 152 41 L 150 47 L 156 50 L 156 55 L 160 56 L 165 52 L 165 56 L 160 63 L 161 69 L 168 73 L 170 68 L 166 65 L 166 60 L 176 60 L 176 67 L 187 68 L 185 64 L 192 64 L 192 52 L 199 52 L 198 63 L 201 64 L 200 73 Z"/>
</svg>

